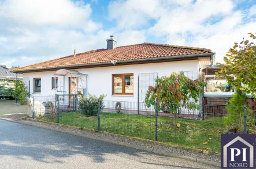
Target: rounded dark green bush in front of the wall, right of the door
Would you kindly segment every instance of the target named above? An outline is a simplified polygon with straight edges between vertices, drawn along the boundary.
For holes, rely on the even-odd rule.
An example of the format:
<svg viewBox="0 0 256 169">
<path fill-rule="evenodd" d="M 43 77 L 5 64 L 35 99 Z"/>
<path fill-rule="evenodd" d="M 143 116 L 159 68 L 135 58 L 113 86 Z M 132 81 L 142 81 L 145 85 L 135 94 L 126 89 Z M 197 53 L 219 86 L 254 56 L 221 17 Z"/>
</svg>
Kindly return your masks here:
<svg viewBox="0 0 256 169">
<path fill-rule="evenodd" d="M 78 102 L 78 111 L 81 114 L 86 116 L 97 116 L 98 114 L 98 98 L 95 95 L 88 94 L 89 97 L 82 97 Z M 100 103 L 100 111 L 103 109 L 103 99 L 106 97 L 105 94 L 102 94 L 99 99 Z"/>
</svg>

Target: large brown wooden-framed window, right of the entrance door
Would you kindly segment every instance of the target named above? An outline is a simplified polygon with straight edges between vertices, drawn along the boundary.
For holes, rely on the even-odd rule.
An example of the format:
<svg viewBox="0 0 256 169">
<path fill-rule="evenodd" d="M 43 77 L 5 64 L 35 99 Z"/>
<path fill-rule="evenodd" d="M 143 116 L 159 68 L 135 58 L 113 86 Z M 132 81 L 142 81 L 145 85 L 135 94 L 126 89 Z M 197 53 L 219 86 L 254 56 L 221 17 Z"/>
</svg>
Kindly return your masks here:
<svg viewBox="0 0 256 169">
<path fill-rule="evenodd" d="M 112 79 L 112 94 L 133 95 L 133 74 L 114 74 Z"/>
</svg>

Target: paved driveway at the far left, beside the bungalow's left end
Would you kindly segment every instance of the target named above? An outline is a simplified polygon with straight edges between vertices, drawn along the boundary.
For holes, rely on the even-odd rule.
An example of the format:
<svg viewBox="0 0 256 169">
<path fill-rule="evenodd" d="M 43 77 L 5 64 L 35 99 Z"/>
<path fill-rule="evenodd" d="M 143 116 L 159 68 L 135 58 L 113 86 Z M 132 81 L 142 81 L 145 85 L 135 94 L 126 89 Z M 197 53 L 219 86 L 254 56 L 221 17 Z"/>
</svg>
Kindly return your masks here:
<svg viewBox="0 0 256 169">
<path fill-rule="evenodd" d="M 0 117 L 6 114 L 27 114 L 28 105 L 16 105 L 15 100 L 0 99 Z"/>
</svg>

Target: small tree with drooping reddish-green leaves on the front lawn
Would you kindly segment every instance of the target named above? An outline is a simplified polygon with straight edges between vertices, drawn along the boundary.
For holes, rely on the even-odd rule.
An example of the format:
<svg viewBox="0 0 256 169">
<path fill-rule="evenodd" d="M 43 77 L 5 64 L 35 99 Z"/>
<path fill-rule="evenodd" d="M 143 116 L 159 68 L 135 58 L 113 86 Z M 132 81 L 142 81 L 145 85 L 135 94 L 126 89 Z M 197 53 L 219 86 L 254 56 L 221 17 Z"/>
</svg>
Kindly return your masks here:
<svg viewBox="0 0 256 169">
<path fill-rule="evenodd" d="M 177 109 L 187 107 L 191 110 L 198 107 L 196 103 L 203 92 L 202 86 L 205 86 L 205 82 L 201 76 L 191 80 L 184 72 L 173 72 L 170 76 L 162 76 L 155 80 L 155 86 L 150 86 L 147 91 L 145 102 L 147 107 L 150 107 L 157 101 L 158 110 L 174 113 L 173 124 L 176 125 Z M 190 98 L 195 102 L 190 102 Z"/>
</svg>

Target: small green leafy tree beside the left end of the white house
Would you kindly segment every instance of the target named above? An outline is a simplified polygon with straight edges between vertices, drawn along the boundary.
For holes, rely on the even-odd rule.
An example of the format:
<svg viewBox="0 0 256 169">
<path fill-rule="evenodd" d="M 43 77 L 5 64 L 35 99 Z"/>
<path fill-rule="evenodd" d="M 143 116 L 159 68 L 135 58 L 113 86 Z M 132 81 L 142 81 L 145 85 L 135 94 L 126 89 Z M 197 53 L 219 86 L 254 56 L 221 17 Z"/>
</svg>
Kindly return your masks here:
<svg viewBox="0 0 256 169">
<path fill-rule="evenodd" d="M 18 99 L 18 102 L 20 104 L 23 104 L 25 101 L 27 101 L 27 98 L 29 97 L 27 87 L 25 87 L 25 83 L 23 83 L 20 80 L 17 80 L 14 83 L 14 97 Z"/>
</svg>

